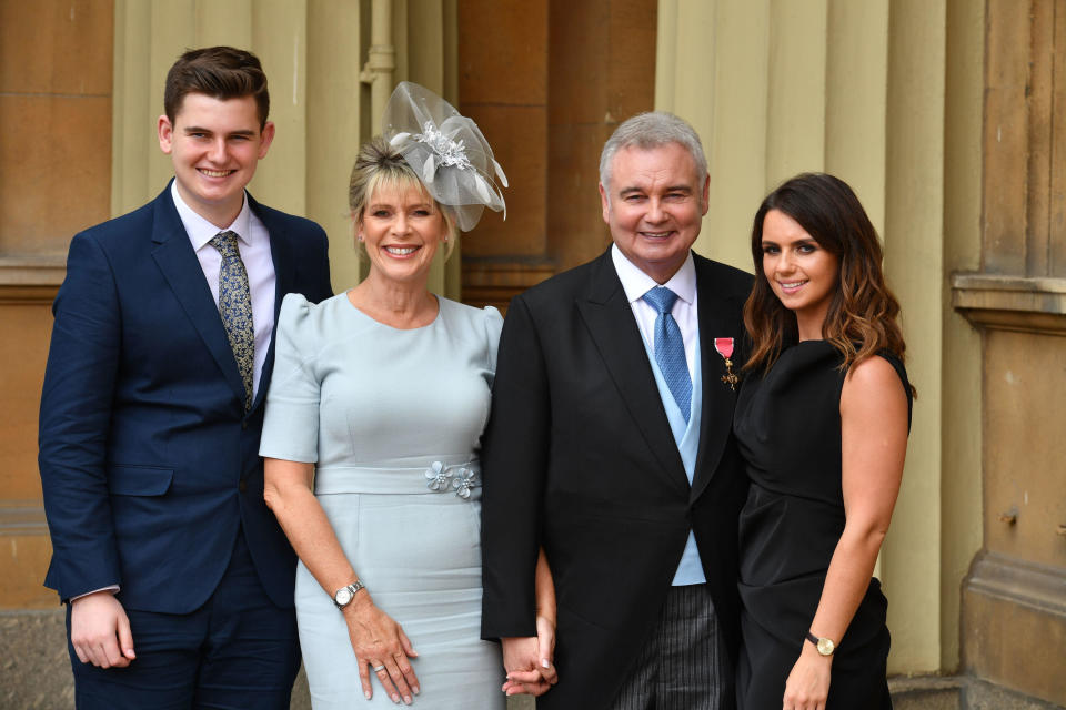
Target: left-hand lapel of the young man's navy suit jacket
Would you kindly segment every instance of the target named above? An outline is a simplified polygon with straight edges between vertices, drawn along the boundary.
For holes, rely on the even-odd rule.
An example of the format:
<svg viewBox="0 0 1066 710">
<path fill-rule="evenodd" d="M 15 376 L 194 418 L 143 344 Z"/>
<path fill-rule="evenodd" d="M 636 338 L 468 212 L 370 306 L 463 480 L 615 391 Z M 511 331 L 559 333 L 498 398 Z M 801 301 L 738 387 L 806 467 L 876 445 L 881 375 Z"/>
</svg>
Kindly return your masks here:
<svg viewBox="0 0 1066 710">
<path fill-rule="evenodd" d="M 152 242 L 155 243 L 152 250 L 155 264 L 214 357 L 225 381 L 233 388 L 233 394 L 240 402 L 244 402 L 244 383 L 241 381 L 233 349 L 225 337 L 219 308 L 203 277 L 203 268 L 170 196 L 170 185 L 154 202 Z"/>
</svg>

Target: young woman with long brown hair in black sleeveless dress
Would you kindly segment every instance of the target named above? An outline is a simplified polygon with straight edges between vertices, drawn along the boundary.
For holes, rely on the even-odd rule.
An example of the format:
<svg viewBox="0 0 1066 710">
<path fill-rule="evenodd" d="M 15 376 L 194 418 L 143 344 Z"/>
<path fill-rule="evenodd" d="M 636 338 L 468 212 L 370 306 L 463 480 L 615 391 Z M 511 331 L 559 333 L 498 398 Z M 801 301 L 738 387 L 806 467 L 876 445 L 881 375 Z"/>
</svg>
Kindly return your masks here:
<svg viewBox="0 0 1066 710">
<path fill-rule="evenodd" d="M 826 174 L 771 193 L 752 229 L 752 338 L 734 432 L 742 710 L 891 708 L 873 578 L 899 491 L 914 389 L 899 304 L 858 199 Z"/>
</svg>

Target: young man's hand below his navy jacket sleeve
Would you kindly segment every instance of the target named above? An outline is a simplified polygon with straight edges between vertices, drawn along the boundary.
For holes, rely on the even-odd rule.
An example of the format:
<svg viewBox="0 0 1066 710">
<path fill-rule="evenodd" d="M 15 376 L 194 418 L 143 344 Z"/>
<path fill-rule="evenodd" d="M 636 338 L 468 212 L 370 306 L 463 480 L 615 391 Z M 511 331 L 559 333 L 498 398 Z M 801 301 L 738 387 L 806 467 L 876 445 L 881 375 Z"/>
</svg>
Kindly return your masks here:
<svg viewBox="0 0 1066 710">
<path fill-rule="evenodd" d="M 78 660 L 100 668 L 125 668 L 137 658 L 130 619 L 110 590 L 70 602 L 70 642 Z"/>
</svg>

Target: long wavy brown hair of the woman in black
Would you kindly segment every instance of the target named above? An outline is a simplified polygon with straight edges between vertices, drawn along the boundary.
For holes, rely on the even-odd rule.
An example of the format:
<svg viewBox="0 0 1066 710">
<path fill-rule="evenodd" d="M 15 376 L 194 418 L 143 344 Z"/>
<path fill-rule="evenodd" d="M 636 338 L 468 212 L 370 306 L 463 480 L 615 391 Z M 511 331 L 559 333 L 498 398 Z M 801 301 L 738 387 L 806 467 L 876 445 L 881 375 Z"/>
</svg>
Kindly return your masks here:
<svg viewBox="0 0 1066 710">
<path fill-rule="evenodd" d="M 744 326 L 752 349 L 744 369 L 767 372 L 785 345 L 798 339 L 796 315 L 781 303 L 763 273 L 763 222 L 771 210 L 798 222 L 822 248 L 839 260 L 838 288 L 829 302 L 822 336 L 843 355 L 841 368 L 847 369 L 879 351 L 903 362 L 906 344 L 896 321 L 899 302 L 885 285 L 877 231 L 847 183 L 826 173 L 803 173 L 770 193 L 755 213 L 755 285 L 744 304 Z"/>
</svg>

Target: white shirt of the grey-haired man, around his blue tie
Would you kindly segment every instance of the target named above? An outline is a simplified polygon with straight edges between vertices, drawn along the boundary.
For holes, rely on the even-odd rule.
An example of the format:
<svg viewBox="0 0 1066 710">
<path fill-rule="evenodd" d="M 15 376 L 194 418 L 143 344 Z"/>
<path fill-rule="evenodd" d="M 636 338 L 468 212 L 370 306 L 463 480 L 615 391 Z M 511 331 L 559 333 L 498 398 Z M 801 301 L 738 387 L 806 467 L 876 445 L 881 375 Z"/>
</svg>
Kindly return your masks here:
<svg viewBox="0 0 1066 710">
<path fill-rule="evenodd" d="M 670 314 L 677 322 L 681 337 L 685 342 L 685 362 L 688 365 L 688 377 L 695 379 L 700 321 L 696 311 L 696 264 L 692 260 L 692 252 L 688 252 L 688 256 L 685 257 L 681 268 L 665 284 L 656 283 L 654 278 L 641 271 L 636 264 L 626 258 L 617 244 L 611 246 L 611 260 L 614 262 L 614 270 L 622 281 L 622 288 L 625 291 L 625 297 L 630 301 L 630 307 L 633 308 L 633 316 L 636 318 L 636 325 L 641 328 L 641 335 L 644 336 L 644 342 L 647 343 L 647 347 L 653 354 L 655 353 L 655 318 L 658 317 L 658 311 L 644 301 L 643 296 L 658 285 L 666 286 L 677 294 L 677 300 L 674 301 L 674 307 Z"/>
</svg>

